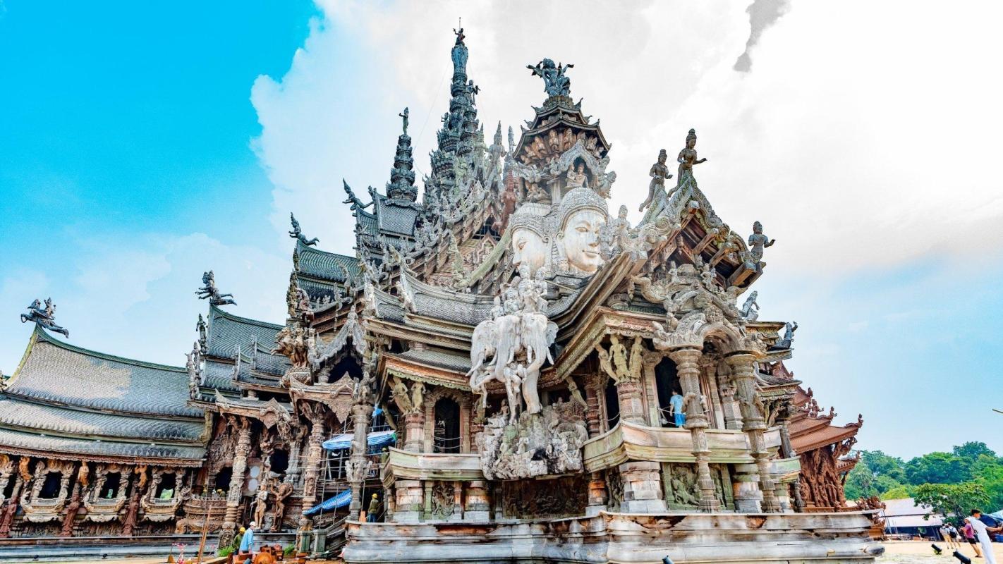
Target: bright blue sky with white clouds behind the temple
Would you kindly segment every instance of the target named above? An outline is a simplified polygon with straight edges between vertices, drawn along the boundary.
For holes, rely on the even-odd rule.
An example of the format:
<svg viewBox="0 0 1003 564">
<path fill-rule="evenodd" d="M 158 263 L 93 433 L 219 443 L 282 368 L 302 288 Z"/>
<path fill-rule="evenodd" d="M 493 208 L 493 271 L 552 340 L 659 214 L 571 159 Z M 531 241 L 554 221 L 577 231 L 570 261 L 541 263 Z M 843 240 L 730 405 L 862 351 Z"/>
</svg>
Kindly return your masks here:
<svg viewBox="0 0 1003 564">
<path fill-rule="evenodd" d="M 17 366 L 30 334 L 17 315 L 34 298 L 54 299 L 76 345 L 175 365 L 206 308 L 193 295 L 205 269 L 235 313 L 281 322 L 289 211 L 321 247 L 352 252 L 341 179 L 382 187 L 405 105 L 426 168 L 462 15 L 488 135 L 498 121 L 518 131 L 542 101 L 527 63 L 576 64 L 573 94 L 613 143 L 613 207 L 636 209 L 658 149 L 697 128 L 715 210 L 778 240 L 762 318 L 800 324 L 789 368 L 839 421 L 864 414 L 860 447 L 1003 452 L 990 411 L 1003 408 L 1003 87 L 985 71 L 998 18 L 918 8 L 904 28 L 891 8 L 862 20 L 865 7 L 797 4 L 738 72 L 743 5 L 568 8 L 4 2 L 0 370 Z M 541 34 L 530 10 L 565 23 Z M 959 84 L 966 103 L 938 111 Z M 934 161 L 959 139 L 963 162 Z"/>
</svg>

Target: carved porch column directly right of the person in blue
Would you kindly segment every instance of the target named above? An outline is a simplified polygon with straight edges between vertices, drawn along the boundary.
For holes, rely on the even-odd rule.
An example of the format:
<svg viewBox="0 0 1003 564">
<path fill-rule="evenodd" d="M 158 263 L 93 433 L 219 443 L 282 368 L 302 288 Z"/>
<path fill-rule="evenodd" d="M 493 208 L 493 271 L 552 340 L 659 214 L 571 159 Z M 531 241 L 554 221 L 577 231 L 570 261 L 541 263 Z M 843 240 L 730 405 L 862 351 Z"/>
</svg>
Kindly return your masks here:
<svg viewBox="0 0 1003 564">
<path fill-rule="evenodd" d="M 700 351 L 696 349 L 677 349 L 669 353 L 672 362 L 676 364 L 679 375 L 679 385 L 683 397 L 688 398 L 686 424 L 683 426 L 690 432 L 693 439 L 693 456 L 696 458 L 696 482 L 700 488 L 700 511 L 712 512 L 720 510 L 720 504 L 714 493 L 714 480 L 710 477 L 710 447 L 707 446 L 707 415 L 702 404 L 706 401 L 700 395 Z"/>
</svg>

